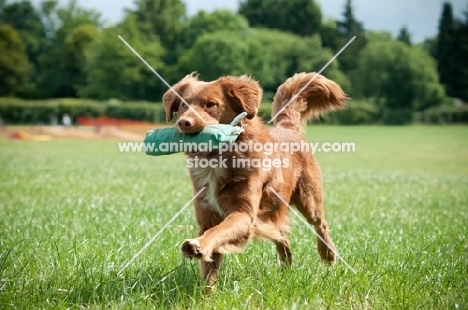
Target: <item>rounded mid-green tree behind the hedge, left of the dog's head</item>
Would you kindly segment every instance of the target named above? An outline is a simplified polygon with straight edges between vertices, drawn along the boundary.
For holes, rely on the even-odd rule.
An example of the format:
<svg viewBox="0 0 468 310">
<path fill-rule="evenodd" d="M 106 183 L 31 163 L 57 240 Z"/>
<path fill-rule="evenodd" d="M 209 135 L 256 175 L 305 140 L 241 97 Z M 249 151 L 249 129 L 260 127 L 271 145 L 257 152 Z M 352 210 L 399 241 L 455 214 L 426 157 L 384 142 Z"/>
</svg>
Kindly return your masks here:
<svg viewBox="0 0 468 310">
<path fill-rule="evenodd" d="M 166 86 L 119 40 L 121 35 L 155 70 L 162 67 L 164 49 L 152 34 L 143 36 L 137 17 L 128 14 L 115 27 L 103 29 L 86 52 L 87 84 L 81 97 L 94 99 L 161 100 Z"/>
</svg>

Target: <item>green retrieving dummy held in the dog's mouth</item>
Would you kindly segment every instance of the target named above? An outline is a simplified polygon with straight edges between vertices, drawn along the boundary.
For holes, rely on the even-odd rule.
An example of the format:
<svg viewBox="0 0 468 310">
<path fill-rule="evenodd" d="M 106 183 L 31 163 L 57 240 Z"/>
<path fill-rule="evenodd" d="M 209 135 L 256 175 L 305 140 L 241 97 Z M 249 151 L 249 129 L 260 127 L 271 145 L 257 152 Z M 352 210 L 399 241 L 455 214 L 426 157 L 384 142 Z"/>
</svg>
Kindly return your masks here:
<svg viewBox="0 0 468 310">
<path fill-rule="evenodd" d="M 151 129 L 146 133 L 145 152 L 147 155 L 161 156 L 190 151 L 211 151 L 218 149 L 222 143 L 236 141 L 244 131 L 236 126 L 247 113 L 239 114 L 229 125 L 207 125 L 195 134 L 180 133 L 175 127 Z"/>
</svg>

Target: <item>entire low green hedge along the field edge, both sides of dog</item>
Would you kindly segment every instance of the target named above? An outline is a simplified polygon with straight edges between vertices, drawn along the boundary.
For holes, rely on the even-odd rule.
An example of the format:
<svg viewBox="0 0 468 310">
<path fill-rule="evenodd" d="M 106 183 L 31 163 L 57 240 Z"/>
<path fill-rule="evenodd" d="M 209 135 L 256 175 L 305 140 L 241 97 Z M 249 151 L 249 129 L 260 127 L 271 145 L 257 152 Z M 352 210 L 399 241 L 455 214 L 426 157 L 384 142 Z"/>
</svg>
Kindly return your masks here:
<svg viewBox="0 0 468 310">
<path fill-rule="evenodd" d="M 87 117 L 109 116 L 165 123 L 166 115 L 161 103 L 122 103 L 118 100 L 93 101 L 86 99 L 51 99 L 28 101 L 15 98 L 0 98 L 0 117 L 7 124 L 49 124 L 53 118 L 60 120 L 63 114 L 73 120 L 79 115 Z M 271 104 L 262 103 L 258 114 L 265 122 L 271 119 Z M 371 100 L 352 100 L 344 110 L 325 114 L 314 123 L 361 125 L 404 125 L 411 122 L 449 124 L 468 123 L 468 107 L 439 106 L 424 112 L 409 109 L 382 109 Z"/>
</svg>

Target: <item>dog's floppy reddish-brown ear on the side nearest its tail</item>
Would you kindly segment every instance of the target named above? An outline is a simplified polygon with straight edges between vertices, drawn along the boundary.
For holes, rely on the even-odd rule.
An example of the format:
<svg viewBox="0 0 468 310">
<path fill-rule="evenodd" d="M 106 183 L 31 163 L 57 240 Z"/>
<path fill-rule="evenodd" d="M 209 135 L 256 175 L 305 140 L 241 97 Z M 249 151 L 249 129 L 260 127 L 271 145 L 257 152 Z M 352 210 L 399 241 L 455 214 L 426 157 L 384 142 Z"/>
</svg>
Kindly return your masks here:
<svg viewBox="0 0 468 310">
<path fill-rule="evenodd" d="M 257 115 L 258 107 L 262 101 L 263 91 L 257 81 L 243 75 L 240 77 L 223 77 L 219 83 L 224 95 L 233 102 L 235 112 L 247 112 L 247 118 Z"/>
</svg>

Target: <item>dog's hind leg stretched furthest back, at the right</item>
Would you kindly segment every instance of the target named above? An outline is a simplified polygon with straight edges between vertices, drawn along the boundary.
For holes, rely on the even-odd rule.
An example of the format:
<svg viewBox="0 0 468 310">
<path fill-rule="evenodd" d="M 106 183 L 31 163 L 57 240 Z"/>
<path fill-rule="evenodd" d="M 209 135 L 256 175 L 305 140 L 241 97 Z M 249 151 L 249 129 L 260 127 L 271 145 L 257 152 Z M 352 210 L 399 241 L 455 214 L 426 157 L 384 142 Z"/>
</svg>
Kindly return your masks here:
<svg viewBox="0 0 468 310">
<path fill-rule="evenodd" d="M 306 171 L 302 175 L 293 193 L 292 202 L 320 236 L 317 237 L 317 250 L 322 261 L 333 263 L 337 251 L 325 221 L 320 171 Z"/>
</svg>

